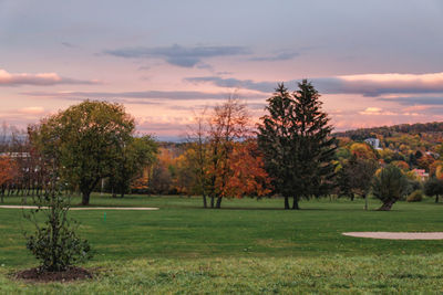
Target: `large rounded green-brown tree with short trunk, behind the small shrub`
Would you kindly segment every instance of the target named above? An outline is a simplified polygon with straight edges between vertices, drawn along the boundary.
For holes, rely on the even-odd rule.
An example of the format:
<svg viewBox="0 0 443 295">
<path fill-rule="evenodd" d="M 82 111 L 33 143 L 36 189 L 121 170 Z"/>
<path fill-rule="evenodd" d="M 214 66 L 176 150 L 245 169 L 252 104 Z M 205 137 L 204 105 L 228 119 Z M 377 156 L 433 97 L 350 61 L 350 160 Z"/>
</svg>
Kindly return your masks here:
<svg viewBox="0 0 443 295">
<path fill-rule="evenodd" d="M 123 105 L 85 101 L 49 116 L 30 128 L 31 141 L 56 165 L 71 189 L 82 192 L 82 204 L 100 179 L 110 177 L 134 133 L 134 119 Z"/>
</svg>

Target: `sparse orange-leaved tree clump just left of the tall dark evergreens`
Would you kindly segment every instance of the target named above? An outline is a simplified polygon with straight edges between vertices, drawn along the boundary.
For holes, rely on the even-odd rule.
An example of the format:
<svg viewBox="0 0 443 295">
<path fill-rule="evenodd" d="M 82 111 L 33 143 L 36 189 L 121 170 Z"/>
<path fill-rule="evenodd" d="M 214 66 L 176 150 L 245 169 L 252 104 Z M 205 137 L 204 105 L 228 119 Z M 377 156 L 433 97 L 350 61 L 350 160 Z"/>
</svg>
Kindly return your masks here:
<svg viewBox="0 0 443 295">
<path fill-rule="evenodd" d="M 220 208 L 223 198 L 264 196 L 268 176 L 250 135 L 246 105 L 229 97 L 209 116 L 197 116 L 186 152 L 205 208 Z M 207 202 L 208 197 L 209 202 Z"/>
</svg>

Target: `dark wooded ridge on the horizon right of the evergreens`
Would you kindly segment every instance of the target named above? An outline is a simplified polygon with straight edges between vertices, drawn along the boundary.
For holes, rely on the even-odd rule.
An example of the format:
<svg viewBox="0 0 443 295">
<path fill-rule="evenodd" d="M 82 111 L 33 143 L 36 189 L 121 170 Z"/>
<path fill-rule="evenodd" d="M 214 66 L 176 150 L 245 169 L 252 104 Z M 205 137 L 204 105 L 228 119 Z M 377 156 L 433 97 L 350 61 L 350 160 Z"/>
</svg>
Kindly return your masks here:
<svg viewBox="0 0 443 295">
<path fill-rule="evenodd" d="M 377 137 L 377 135 L 379 136 L 381 135 L 383 137 L 393 137 L 399 134 L 419 135 L 419 134 L 433 134 L 433 133 L 443 134 L 443 122 L 433 122 L 425 124 L 421 123 L 401 124 L 394 126 L 360 128 L 343 133 L 334 133 L 333 135 L 337 137 L 349 137 L 352 140 L 363 140 L 369 137 Z"/>
</svg>

